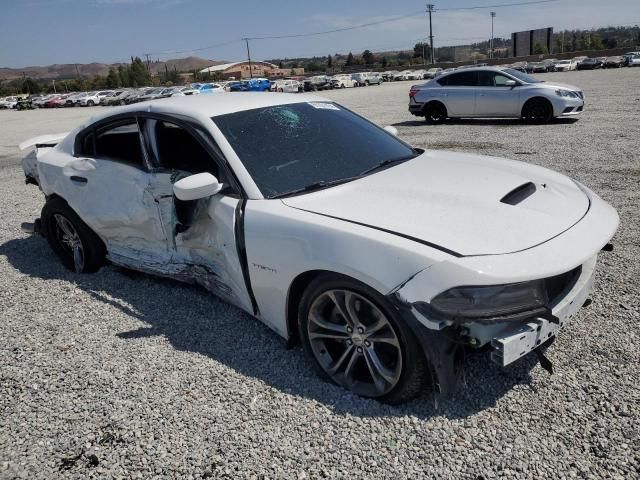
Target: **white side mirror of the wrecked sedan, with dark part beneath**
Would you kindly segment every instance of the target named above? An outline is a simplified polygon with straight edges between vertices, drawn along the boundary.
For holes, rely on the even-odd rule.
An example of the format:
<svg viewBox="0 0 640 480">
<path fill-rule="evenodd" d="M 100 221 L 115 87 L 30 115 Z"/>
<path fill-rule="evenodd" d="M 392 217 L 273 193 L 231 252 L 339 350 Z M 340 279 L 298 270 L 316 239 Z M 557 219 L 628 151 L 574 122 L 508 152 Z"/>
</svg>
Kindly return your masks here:
<svg viewBox="0 0 640 480">
<path fill-rule="evenodd" d="M 178 180 L 173 184 L 174 206 L 176 209 L 176 233 L 186 232 L 196 218 L 198 200 L 212 197 L 222 190 L 222 184 L 210 173 L 198 173 Z"/>
</svg>

